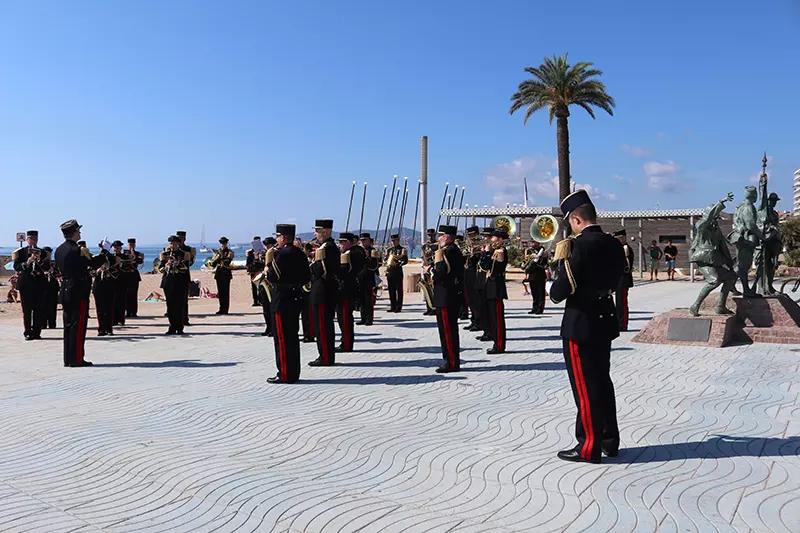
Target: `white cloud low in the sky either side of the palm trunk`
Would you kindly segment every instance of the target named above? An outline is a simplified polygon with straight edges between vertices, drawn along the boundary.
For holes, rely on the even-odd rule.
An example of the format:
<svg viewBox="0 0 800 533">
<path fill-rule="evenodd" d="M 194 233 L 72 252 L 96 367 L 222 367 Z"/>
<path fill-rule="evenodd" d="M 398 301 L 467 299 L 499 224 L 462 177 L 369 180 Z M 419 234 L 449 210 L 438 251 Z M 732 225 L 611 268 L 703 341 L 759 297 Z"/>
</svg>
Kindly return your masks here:
<svg viewBox="0 0 800 533">
<path fill-rule="evenodd" d="M 558 175 L 553 170 L 558 162 L 544 156 L 521 157 L 501 163 L 486 171 L 486 187 L 492 194 L 492 204 L 522 204 L 524 202 L 524 179 L 528 178 L 528 199 L 531 204 L 555 205 L 558 201 Z M 606 193 L 591 184 L 576 184 L 586 189 L 593 198 L 616 201 L 617 195 Z"/>
</svg>

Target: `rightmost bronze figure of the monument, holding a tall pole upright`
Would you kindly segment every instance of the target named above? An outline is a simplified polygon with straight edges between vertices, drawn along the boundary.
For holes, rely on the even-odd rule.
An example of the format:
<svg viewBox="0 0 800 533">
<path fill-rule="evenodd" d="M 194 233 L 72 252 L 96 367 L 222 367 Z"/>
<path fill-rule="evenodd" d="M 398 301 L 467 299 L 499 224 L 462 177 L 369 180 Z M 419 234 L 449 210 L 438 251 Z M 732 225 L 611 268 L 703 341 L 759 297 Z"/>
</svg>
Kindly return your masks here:
<svg viewBox="0 0 800 533">
<path fill-rule="evenodd" d="M 758 206 L 758 225 L 762 233 L 761 246 L 756 252 L 756 279 L 753 287 L 758 286 L 759 294 L 769 296 L 775 294 L 772 286 L 775 279 L 775 269 L 778 266 L 778 256 L 783 249 L 781 243 L 780 216 L 775 210 L 775 205 L 780 198 L 777 194 L 767 196 L 767 154 L 761 161 L 761 177 L 758 181 L 761 202 Z"/>
</svg>

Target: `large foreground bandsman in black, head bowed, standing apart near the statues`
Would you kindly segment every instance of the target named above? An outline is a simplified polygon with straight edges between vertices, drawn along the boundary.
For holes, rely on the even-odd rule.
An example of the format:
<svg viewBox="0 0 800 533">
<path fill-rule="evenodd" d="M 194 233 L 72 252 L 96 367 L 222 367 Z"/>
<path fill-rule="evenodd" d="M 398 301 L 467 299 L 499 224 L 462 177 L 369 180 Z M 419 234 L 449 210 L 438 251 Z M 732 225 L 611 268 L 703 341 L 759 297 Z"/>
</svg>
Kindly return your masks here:
<svg viewBox="0 0 800 533">
<path fill-rule="evenodd" d="M 619 322 L 611 298 L 622 277 L 622 245 L 597 225 L 597 213 L 584 190 L 561 202 L 574 237 L 556 246 L 558 278 L 550 289 L 555 303 L 566 300 L 561 321 L 569 381 L 578 416 L 574 448 L 558 452 L 565 461 L 599 463 L 601 452 L 619 451 L 619 429 L 614 385 L 609 373 L 611 341 L 619 336 Z"/>
</svg>

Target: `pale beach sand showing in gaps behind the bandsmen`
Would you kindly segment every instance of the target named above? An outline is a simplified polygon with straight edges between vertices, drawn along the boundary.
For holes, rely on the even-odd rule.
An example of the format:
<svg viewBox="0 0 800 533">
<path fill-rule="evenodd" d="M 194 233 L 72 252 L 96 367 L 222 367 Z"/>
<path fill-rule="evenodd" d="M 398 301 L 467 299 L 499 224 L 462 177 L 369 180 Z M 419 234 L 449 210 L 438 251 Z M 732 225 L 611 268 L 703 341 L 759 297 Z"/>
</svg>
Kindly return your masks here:
<svg viewBox="0 0 800 533">
<path fill-rule="evenodd" d="M 411 263 L 404 267 L 406 276 L 409 274 L 417 274 L 420 272 L 419 263 Z M 384 285 L 385 285 L 385 276 Z M 523 274 L 518 269 L 509 269 L 508 275 L 508 295 L 510 299 L 530 299 L 530 296 L 523 295 L 522 278 Z M 199 280 L 203 287 L 208 287 L 212 293 L 217 292 L 217 284 L 214 281 L 214 274 L 204 270 L 193 270 L 192 279 Z M 408 279 L 408 278 L 406 278 Z M 7 279 L 3 280 L 7 283 Z M 163 289 L 159 287 L 161 284 L 161 274 L 145 274 L 142 273 L 142 282 L 139 284 L 139 299 L 142 300 L 147 296 L 150 291 L 158 291 L 162 295 Z M 253 298 L 250 292 L 250 277 L 244 270 L 236 270 L 233 272 L 233 280 L 231 281 L 231 306 L 230 312 L 234 314 L 253 314 L 261 316 L 261 308 L 253 307 Z M 9 304 L 5 303 L 5 295 L 9 287 L 3 285 L 0 287 L 0 294 L 3 297 L 3 303 L 0 303 L 0 322 L 19 322 L 20 335 L 22 335 L 22 307 L 19 303 Z M 422 294 L 420 292 L 409 293 L 408 283 L 404 285 L 406 290 L 405 301 L 408 303 L 422 302 Z M 384 290 L 383 297 L 377 302 L 378 309 L 383 307 L 383 304 L 388 302 L 389 296 Z M 388 304 L 387 304 L 388 305 Z M 94 317 L 94 298 L 90 298 L 90 316 Z M 167 327 L 167 319 L 163 317 L 166 312 L 167 305 L 165 302 L 140 302 L 139 315 L 143 317 L 161 317 L 163 325 L 158 325 L 155 331 L 159 331 Z M 219 309 L 219 303 L 215 298 L 191 298 L 189 300 L 189 317 L 192 321 L 192 315 L 209 315 L 214 314 Z M 135 323 L 135 319 L 130 321 Z M 61 309 L 58 312 L 58 324 L 61 325 Z M 94 319 L 90 320 L 90 328 L 96 328 L 97 323 Z M 90 334 L 91 334 L 90 329 Z"/>
</svg>

